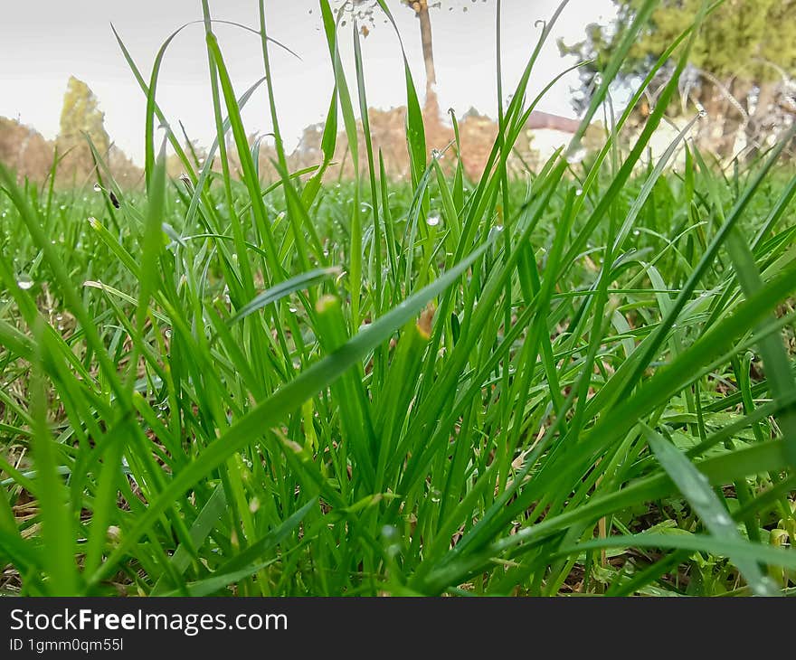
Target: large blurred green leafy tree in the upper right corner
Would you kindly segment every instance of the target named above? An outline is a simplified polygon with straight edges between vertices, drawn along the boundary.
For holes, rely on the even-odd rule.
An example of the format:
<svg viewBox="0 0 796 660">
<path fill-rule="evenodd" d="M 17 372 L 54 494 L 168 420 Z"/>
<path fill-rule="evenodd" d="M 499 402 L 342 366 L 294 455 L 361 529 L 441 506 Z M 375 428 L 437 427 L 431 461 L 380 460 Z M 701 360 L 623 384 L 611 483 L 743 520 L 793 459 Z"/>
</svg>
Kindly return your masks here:
<svg viewBox="0 0 796 660">
<path fill-rule="evenodd" d="M 582 88 L 573 105 L 589 102 L 594 76 L 602 71 L 623 28 L 630 24 L 642 0 L 613 0 L 616 21 L 592 24 L 583 42 L 559 43 L 564 54 L 593 63 L 582 70 Z M 658 8 L 624 62 L 623 80 L 645 76 L 678 34 L 692 24 L 702 0 L 660 0 Z M 704 108 L 708 121 L 700 143 L 719 156 L 734 155 L 736 140 L 756 151 L 776 128 L 793 121 L 796 91 L 796 0 L 726 0 L 710 14 L 696 39 L 690 66 L 680 80 L 683 107 Z M 671 74 L 671 68 L 661 77 Z M 662 80 L 661 80 L 662 81 Z M 640 114 L 655 102 L 653 90 Z"/>
</svg>

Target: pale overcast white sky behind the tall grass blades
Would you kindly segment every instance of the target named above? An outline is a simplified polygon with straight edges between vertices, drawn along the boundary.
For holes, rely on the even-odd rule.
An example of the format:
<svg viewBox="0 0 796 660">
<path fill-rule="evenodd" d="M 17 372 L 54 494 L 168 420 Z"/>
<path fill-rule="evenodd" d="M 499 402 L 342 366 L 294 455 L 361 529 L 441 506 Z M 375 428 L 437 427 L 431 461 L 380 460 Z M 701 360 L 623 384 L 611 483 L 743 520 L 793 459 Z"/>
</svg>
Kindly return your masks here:
<svg viewBox="0 0 796 660">
<path fill-rule="evenodd" d="M 502 43 L 504 90 L 522 71 L 541 31 L 535 25 L 554 13 L 559 0 L 504 0 Z M 257 0 L 211 0 L 213 17 L 256 27 Z M 407 49 L 412 75 L 425 89 L 420 30 L 411 10 L 388 0 Z M 434 55 L 441 108 L 463 114 L 470 107 L 496 112 L 496 0 L 441 0 L 432 9 Z M 265 0 L 270 36 L 301 56 L 274 49 L 271 62 L 280 126 L 291 149 L 301 131 L 322 120 L 332 90 L 331 65 L 321 32 L 317 0 Z M 530 92 L 573 63 L 559 56 L 555 40 L 582 38 L 585 25 L 610 20 L 611 0 L 570 0 L 543 52 Z M 466 7 L 467 11 L 463 11 Z M 148 79 L 160 44 L 175 28 L 202 17 L 201 0 L 0 0 L 0 116 L 19 118 L 52 138 L 58 132 L 63 92 L 70 75 L 87 82 L 100 99 L 110 137 L 140 163 L 144 152 L 146 101 L 110 30 L 112 22 Z M 236 93 L 263 75 L 256 35 L 218 25 L 216 33 L 231 70 Z M 405 103 L 403 63 L 391 26 L 377 16 L 362 41 L 368 101 L 372 107 Z M 353 46 L 343 45 L 349 82 L 354 82 Z M 571 74 L 539 109 L 573 116 Z M 172 42 L 158 83 L 157 100 L 170 122 L 181 119 L 190 137 L 209 145 L 214 136 L 213 104 L 201 25 L 192 25 Z M 246 106 L 247 130 L 270 131 L 263 86 Z"/>
</svg>

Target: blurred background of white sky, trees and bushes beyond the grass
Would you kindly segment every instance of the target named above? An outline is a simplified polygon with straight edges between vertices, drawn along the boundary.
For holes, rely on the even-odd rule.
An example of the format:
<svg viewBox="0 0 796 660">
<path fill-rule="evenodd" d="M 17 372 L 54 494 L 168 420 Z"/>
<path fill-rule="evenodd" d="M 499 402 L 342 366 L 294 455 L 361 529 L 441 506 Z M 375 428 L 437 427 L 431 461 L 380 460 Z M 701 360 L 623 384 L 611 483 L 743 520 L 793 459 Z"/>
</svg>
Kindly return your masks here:
<svg viewBox="0 0 796 660">
<path fill-rule="evenodd" d="M 611 90 L 611 105 L 598 112 L 584 146 L 601 143 L 651 64 L 693 21 L 701 0 L 660 0 L 642 38 L 623 64 Z M 497 0 L 387 0 L 401 41 L 375 0 L 333 3 L 339 15 L 339 48 L 349 84 L 355 89 L 354 40 L 359 39 L 374 143 L 389 174 L 408 171 L 404 118 L 402 44 L 422 96 L 429 148 L 452 138 L 451 114 L 460 122 L 462 157 L 470 177 L 480 173 L 497 135 Z M 500 65 L 503 89 L 513 89 L 527 57 L 554 18 L 551 38 L 540 52 L 529 86 L 545 92 L 529 118 L 510 164 L 516 173 L 534 170 L 564 145 L 578 126 L 597 76 L 622 28 L 640 0 L 504 0 L 500 4 Z M 257 3 L 211 3 L 214 27 L 240 96 L 263 76 L 257 35 Z M 125 44 L 147 80 L 156 52 L 170 42 L 157 82 L 156 99 L 178 134 L 201 158 L 214 137 L 213 104 L 198 21 L 199 0 L 102 2 L 52 0 L 8 2 L 0 24 L 0 160 L 20 177 L 42 181 L 57 153 L 59 183 L 92 180 L 93 159 L 86 135 L 108 161 L 118 182 L 141 181 L 146 95 L 120 48 Z M 332 65 L 317 0 L 266 0 L 272 75 L 280 130 L 299 168 L 320 160 L 320 139 L 333 89 Z M 240 25 L 235 25 L 240 24 Z M 278 42 L 278 43 L 277 43 Z M 727 0 L 709 16 L 691 62 L 680 80 L 678 98 L 652 140 L 653 157 L 700 112 L 706 117 L 692 136 L 721 164 L 755 157 L 796 117 L 796 0 Z M 627 128 L 627 141 L 643 126 L 671 69 L 659 74 Z M 504 102 L 507 99 L 504 99 Z M 355 102 L 355 107 L 358 104 Z M 262 140 L 261 172 L 270 169 L 272 139 L 265 86 L 244 109 L 251 143 Z M 181 125 L 181 127 L 180 127 Z M 337 175 L 353 166 L 338 140 Z M 232 165 L 235 156 L 231 152 Z M 364 156 L 363 156 L 364 157 Z M 791 155 L 792 158 L 792 155 Z M 169 173 L 179 174 L 172 158 Z M 334 173 L 333 173 L 334 174 Z"/>
</svg>

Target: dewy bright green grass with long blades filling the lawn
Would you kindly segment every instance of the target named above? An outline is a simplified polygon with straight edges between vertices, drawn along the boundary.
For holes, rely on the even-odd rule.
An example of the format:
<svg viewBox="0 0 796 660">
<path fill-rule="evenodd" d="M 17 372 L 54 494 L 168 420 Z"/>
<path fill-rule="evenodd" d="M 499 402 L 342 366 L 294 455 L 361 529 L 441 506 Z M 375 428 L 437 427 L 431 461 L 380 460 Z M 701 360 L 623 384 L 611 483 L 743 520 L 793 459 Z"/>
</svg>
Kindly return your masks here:
<svg viewBox="0 0 796 660">
<path fill-rule="evenodd" d="M 145 192 L 99 157 L 118 210 L 0 167 L 5 593 L 791 593 L 784 142 L 725 174 L 684 132 L 644 165 L 673 79 L 630 149 L 629 109 L 601 152 L 571 163 L 575 141 L 514 180 L 536 50 L 474 182 L 458 145 L 444 168 L 429 153 L 407 66 L 412 175 L 389 181 L 366 125 L 356 144 L 367 62 L 355 46 L 344 72 L 349 36 L 320 5 L 336 89 L 317 169 L 290 173 L 278 147 L 261 183 L 240 110 L 268 92 L 278 127 L 279 99 L 268 79 L 232 88 L 206 3 L 218 153 L 236 146 L 240 179 L 166 127 L 189 182 L 167 179 L 161 58 L 147 80 L 127 51 Z M 267 29 L 261 3 L 266 72 Z M 692 33 L 658 66 L 685 66 Z M 338 125 L 366 163 L 341 184 Z"/>
</svg>

